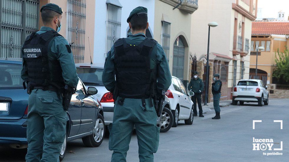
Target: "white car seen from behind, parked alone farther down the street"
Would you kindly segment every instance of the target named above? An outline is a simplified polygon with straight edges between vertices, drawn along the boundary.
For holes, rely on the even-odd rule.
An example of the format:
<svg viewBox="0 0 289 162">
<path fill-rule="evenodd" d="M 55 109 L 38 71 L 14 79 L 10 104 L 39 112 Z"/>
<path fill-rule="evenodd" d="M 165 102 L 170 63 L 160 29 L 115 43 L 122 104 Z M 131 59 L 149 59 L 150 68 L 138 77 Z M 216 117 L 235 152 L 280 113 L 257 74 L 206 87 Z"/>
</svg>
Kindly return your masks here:
<svg viewBox="0 0 289 162">
<path fill-rule="evenodd" d="M 259 106 L 268 105 L 267 85 L 265 86 L 262 80 L 257 79 L 240 80 L 234 87 L 232 104 L 237 105 L 238 101 L 240 105 L 243 105 L 244 102 L 257 102 Z"/>
</svg>

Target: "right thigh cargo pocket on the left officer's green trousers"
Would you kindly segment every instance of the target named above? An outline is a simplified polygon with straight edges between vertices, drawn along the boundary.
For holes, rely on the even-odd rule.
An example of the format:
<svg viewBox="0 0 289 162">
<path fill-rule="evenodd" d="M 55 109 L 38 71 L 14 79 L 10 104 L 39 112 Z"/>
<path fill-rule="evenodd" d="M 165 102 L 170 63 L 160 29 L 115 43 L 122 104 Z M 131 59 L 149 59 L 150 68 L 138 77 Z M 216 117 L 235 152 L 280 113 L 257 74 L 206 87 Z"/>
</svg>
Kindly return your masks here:
<svg viewBox="0 0 289 162">
<path fill-rule="evenodd" d="M 66 123 L 68 121 L 67 115 L 55 115 L 52 130 L 52 142 L 64 142 L 66 138 Z"/>
</svg>

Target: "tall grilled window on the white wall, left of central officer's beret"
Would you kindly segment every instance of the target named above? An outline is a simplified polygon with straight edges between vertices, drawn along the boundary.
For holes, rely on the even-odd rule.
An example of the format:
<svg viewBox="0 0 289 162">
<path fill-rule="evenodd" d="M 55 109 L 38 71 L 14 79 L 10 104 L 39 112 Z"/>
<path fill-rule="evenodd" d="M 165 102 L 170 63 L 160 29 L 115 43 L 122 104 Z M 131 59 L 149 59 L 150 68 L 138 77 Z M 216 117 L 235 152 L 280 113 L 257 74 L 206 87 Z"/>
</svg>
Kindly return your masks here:
<svg viewBox="0 0 289 162">
<path fill-rule="evenodd" d="M 106 52 L 109 52 L 114 42 L 120 38 L 121 7 L 107 4 L 106 20 Z"/>
</svg>

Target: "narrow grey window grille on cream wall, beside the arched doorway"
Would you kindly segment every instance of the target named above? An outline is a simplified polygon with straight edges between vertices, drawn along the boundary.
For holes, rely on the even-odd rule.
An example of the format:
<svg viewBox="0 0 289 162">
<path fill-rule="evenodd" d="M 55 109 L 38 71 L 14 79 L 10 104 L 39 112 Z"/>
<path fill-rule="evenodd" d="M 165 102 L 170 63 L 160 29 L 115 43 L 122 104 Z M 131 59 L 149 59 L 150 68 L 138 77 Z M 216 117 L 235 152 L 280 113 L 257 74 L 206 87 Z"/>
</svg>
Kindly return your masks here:
<svg viewBox="0 0 289 162">
<path fill-rule="evenodd" d="M 167 59 L 169 60 L 170 54 L 170 23 L 162 22 L 162 48 L 165 51 Z"/>
</svg>

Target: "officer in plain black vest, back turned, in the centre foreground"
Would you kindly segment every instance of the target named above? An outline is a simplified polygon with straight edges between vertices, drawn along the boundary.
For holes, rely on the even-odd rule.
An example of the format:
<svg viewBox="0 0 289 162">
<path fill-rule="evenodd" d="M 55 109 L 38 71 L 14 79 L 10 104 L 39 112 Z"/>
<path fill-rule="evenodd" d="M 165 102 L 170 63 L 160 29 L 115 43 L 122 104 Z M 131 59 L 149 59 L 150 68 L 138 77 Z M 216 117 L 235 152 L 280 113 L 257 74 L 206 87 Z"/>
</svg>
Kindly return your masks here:
<svg viewBox="0 0 289 162">
<path fill-rule="evenodd" d="M 102 75 L 104 86 L 115 99 L 109 150 L 114 151 L 111 161 L 126 161 L 135 126 L 139 161 L 152 162 L 160 133 L 153 98 L 168 90 L 172 77 L 162 46 L 145 36 L 149 26 L 147 8 L 133 9 L 127 22 L 132 33 L 114 43 Z"/>
</svg>

